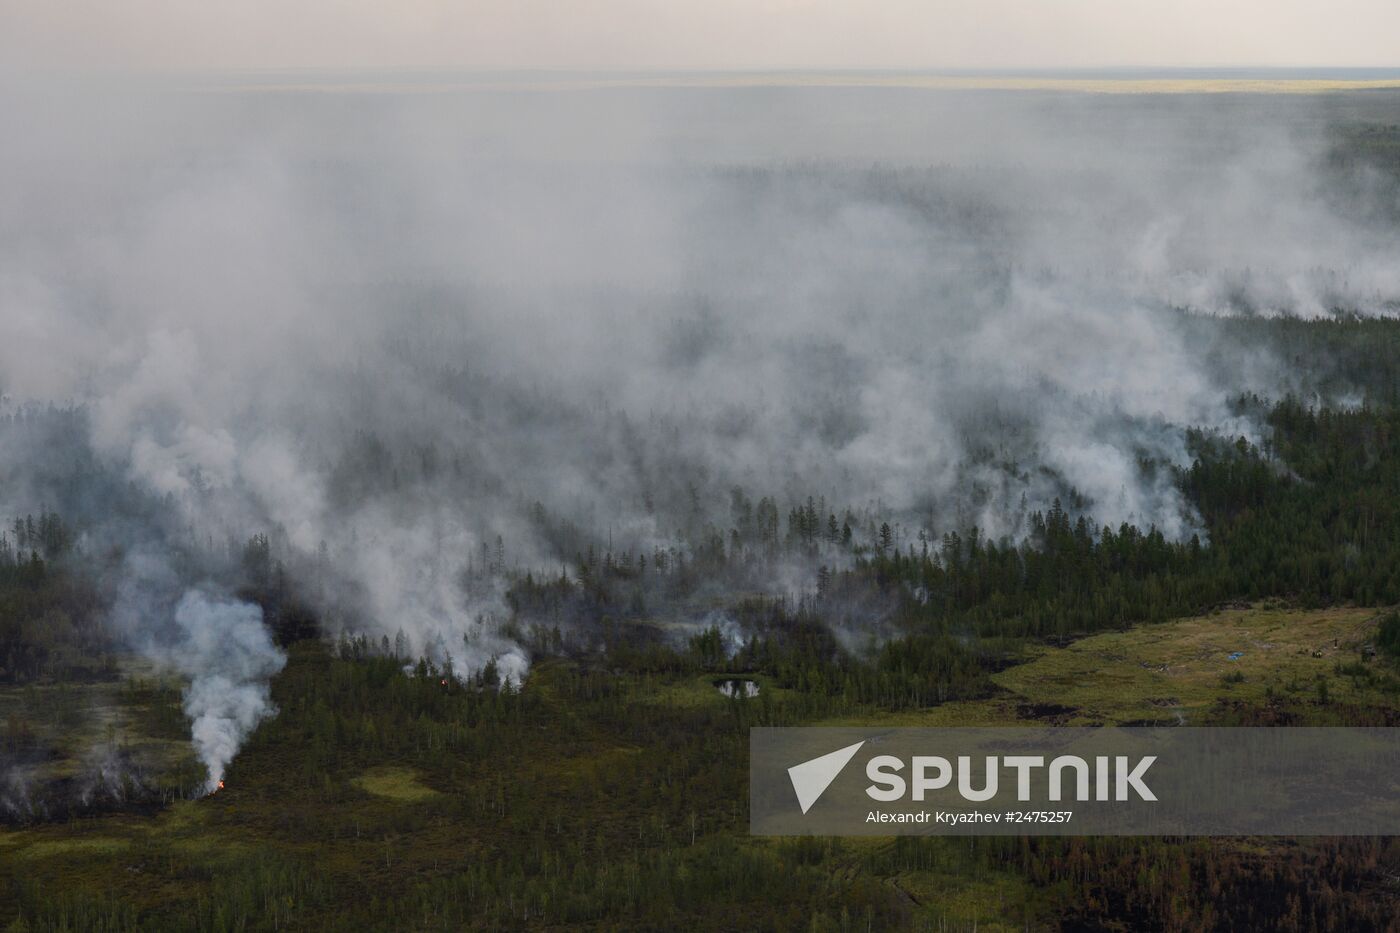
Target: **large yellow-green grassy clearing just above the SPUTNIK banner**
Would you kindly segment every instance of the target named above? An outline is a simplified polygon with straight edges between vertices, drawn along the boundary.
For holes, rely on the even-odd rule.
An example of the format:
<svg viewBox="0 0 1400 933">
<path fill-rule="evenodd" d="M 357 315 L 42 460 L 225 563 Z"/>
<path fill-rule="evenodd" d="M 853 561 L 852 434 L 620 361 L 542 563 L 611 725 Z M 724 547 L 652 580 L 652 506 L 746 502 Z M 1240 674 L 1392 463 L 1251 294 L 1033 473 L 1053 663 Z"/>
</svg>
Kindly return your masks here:
<svg viewBox="0 0 1400 933">
<path fill-rule="evenodd" d="M 1266 721 L 1317 724 L 1329 712 L 1372 710 L 1382 724 L 1400 702 L 1394 672 L 1364 660 L 1382 615 L 1260 605 L 1107 632 L 1033 647 L 993 674 L 997 692 L 984 699 L 823 724 L 1210 726 L 1242 707 L 1273 710 Z"/>
</svg>

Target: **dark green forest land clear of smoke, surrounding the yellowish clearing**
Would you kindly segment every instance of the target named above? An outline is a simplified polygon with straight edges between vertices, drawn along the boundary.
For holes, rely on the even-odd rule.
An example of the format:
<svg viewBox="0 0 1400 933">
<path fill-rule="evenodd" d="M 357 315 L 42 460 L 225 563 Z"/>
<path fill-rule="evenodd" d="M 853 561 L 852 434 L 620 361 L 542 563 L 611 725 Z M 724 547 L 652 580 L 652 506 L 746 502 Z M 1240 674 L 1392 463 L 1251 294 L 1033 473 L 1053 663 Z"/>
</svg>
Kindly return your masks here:
<svg viewBox="0 0 1400 933">
<path fill-rule="evenodd" d="M 1313 326 L 1319 340 L 1337 328 L 1366 342 L 1394 333 Z M 1376 607 L 1379 622 L 1316 684 L 1222 700 L 1200 721 L 1394 724 L 1394 406 L 1233 403 L 1259 412 L 1267 434 L 1191 436 L 1193 461 L 1172 482 L 1204 528 L 1186 541 L 1099 525 L 1058 500 L 1029 510 L 1015 539 L 977 527 L 910 535 L 874 510 L 742 489 L 728 527 L 687 548 L 580 541 L 560 569 L 518 569 L 503 537 L 472 556 L 462 586 L 505 580 L 507 625 L 532 660 L 522 681 L 491 663 L 462 675 L 451 660 L 413 657 L 403 636 L 328 636 L 265 534 L 196 546 L 188 559 L 259 605 L 287 653 L 272 684 L 277 714 L 214 797 L 192 792 L 197 766 L 143 759 L 144 738 L 113 740 L 125 768 L 27 796 L 11 783 L 15 845 L 32 849 L 7 860 L 14 929 L 1389 929 L 1400 852 L 1385 838 L 746 836 L 749 726 L 988 702 L 1005 692 L 994 675 L 1036 646 L 1222 607 L 1287 607 L 1299 621 Z M 83 417 L 32 409 L 4 430 Z M 554 527 L 543 506 L 532 514 Z M 0 539 L 11 761 L 57 754 L 41 720 L 63 703 L 78 716 L 91 689 L 136 734 L 188 734 L 179 684 L 120 663 L 99 611 L 113 559 L 52 511 L 14 518 Z M 742 595 L 788 560 L 815 567 L 805 587 Z M 717 581 L 739 595 L 714 600 Z M 693 605 L 715 621 L 679 640 L 657 626 Z M 881 619 L 878 640 L 862 614 Z M 714 688 L 724 678 L 762 689 L 727 699 Z M 1028 699 L 1015 721 L 1054 714 Z"/>
</svg>

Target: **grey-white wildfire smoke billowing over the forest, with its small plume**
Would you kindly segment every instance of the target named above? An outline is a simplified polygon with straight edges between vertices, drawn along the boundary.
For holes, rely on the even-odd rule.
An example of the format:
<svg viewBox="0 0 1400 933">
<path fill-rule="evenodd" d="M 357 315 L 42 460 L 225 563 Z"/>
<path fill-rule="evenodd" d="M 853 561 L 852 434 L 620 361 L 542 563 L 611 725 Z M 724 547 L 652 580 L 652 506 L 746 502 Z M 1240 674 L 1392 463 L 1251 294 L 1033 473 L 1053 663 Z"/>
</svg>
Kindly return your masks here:
<svg viewBox="0 0 1400 933">
<path fill-rule="evenodd" d="M 1057 496 L 1198 534 L 1183 430 L 1254 436 L 1229 398 L 1291 384 L 1183 312 L 1393 314 L 1396 189 L 1327 165 L 1334 125 L 1396 112 L 21 87 L 0 389 L 87 403 L 162 528 L 270 531 L 332 629 L 518 679 L 511 572 L 722 532 L 734 486 L 906 541 L 1015 538 Z M 217 779 L 281 658 L 251 607 L 193 594 L 174 622 L 132 637 L 179 639 Z"/>
</svg>

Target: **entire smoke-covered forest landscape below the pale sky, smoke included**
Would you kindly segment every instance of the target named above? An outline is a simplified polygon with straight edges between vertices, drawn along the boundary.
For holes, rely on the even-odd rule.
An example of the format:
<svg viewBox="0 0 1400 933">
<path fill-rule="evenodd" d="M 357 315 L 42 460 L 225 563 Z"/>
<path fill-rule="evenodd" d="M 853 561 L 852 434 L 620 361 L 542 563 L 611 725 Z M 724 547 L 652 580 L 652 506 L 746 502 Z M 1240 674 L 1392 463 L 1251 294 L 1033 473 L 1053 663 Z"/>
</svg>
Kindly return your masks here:
<svg viewBox="0 0 1400 933">
<path fill-rule="evenodd" d="M 1400 727 L 1397 91 L 837 77 L 0 88 L 0 929 L 1400 929 L 750 835 L 760 726 Z"/>
</svg>

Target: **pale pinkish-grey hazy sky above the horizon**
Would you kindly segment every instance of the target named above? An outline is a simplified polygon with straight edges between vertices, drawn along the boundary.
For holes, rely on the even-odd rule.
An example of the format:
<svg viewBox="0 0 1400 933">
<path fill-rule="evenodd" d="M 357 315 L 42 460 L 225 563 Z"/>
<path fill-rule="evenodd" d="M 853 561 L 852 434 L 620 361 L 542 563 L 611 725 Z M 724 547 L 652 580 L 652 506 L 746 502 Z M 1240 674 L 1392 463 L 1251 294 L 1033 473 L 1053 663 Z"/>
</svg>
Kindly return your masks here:
<svg viewBox="0 0 1400 933">
<path fill-rule="evenodd" d="M 1396 0 L 0 0 L 0 67 L 1400 66 Z"/>
</svg>

